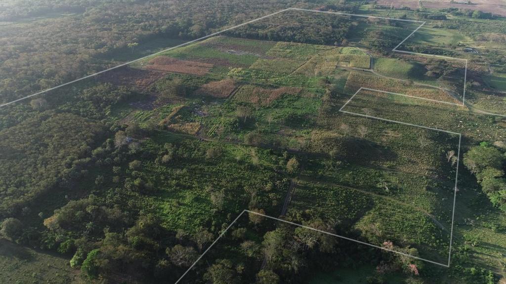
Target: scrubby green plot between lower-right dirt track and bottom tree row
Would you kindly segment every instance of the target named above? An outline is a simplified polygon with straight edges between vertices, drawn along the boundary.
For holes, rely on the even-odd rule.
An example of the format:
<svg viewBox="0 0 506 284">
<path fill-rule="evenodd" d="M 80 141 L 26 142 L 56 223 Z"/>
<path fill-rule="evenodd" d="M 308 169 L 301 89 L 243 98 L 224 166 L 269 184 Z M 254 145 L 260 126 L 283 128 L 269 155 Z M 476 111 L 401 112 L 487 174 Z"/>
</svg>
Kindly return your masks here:
<svg viewBox="0 0 506 284">
<path fill-rule="evenodd" d="M 402 202 L 366 187 L 304 179 L 308 180 L 298 184 L 288 216 L 305 212 L 306 216 L 338 224 L 341 234 L 348 238 L 380 247 L 391 242 L 396 246 L 394 251 L 411 249 L 409 255 L 413 257 L 442 264 L 448 261 L 451 210 L 428 211 L 415 202 Z"/>
</svg>

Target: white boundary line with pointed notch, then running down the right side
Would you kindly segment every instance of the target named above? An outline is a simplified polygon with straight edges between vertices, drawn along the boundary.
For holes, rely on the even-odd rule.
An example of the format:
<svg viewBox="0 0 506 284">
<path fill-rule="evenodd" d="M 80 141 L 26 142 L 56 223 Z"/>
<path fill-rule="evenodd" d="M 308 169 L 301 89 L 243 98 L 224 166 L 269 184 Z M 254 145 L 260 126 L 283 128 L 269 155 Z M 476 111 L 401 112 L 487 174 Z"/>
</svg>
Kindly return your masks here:
<svg viewBox="0 0 506 284">
<path fill-rule="evenodd" d="M 448 250 L 448 264 L 437 263 L 437 264 L 445 266 L 445 267 L 450 267 L 451 243 L 452 243 L 452 240 L 453 240 L 453 224 L 454 224 L 454 218 L 455 218 L 455 202 L 456 202 L 456 198 L 457 198 L 458 167 L 459 167 L 459 160 L 460 160 L 460 145 L 461 145 L 461 140 L 462 140 L 462 133 L 452 132 L 452 131 L 448 131 L 448 130 L 442 130 L 442 129 L 438 129 L 438 128 L 423 126 L 423 125 L 417 125 L 417 124 L 412 124 L 412 123 L 407 123 L 407 122 L 402 122 L 402 121 L 397 121 L 397 120 L 391 120 L 391 119 L 386 119 L 386 118 L 381 118 L 381 117 L 376 117 L 376 116 L 370 116 L 370 115 L 365 115 L 365 114 L 361 114 L 361 113 L 354 113 L 354 112 L 344 111 L 343 109 L 363 89 L 371 90 L 371 91 L 378 91 L 378 92 L 383 92 L 383 93 L 390 93 L 390 94 L 395 94 L 397 96 L 410 97 L 410 98 L 414 98 L 414 99 L 418 99 L 418 100 L 435 101 L 435 100 L 430 100 L 430 99 L 425 99 L 425 98 L 407 96 L 405 94 L 400 94 L 400 93 L 395 93 L 395 92 L 388 92 L 388 91 L 382 91 L 382 90 L 375 90 L 375 89 L 360 87 L 353 94 L 353 96 L 351 96 L 351 98 L 339 109 L 339 111 L 343 112 L 343 113 L 351 114 L 351 115 L 356 115 L 356 116 L 361 116 L 361 117 L 366 117 L 366 118 L 373 118 L 373 119 L 388 121 L 388 122 L 392 122 L 392 123 L 399 123 L 399 124 L 404 124 L 404 125 L 409 125 L 409 126 L 415 126 L 415 127 L 420 127 L 420 128 L 425 128 L 425 129 L 430 129 L 430 130 L 435 130 L 435 131 L 440 131 L 440 132 L 446 132 L 446 133 L 450 133 L 450 134 L 453 134 L 453 135 L 458 135 L 457 168 L 455 170 L 455 187 L 453 189 L 453 209 L 452 209 L 452 212 L 451 212 L 451 228 L 450 228 L 450 243 L 449 243 L 449 250 Z M 440 101 L 435 101 L 435 102 L 441 103 Z M 449 104 L 451 104 L 451 103 L 449 103 Z M 457 105 L 457 104 L 455 104 L 455 105 Z M 460 105 L 457 105 L 457 106 L 460 106 Z M 434 263 L 433 261 L 430 261 L 430 262 Z"/>
</svg>

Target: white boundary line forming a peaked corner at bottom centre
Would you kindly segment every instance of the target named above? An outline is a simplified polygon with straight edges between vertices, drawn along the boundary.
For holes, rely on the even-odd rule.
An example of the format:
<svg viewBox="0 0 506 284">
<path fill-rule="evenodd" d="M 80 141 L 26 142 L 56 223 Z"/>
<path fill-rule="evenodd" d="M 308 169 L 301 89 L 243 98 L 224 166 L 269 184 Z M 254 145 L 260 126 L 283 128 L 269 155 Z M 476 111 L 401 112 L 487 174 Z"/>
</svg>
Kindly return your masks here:
<svg viewBox="0 0 506 284">
<path fill-rule="evenodd" d="M 222 238 L 222 236 L 225 235 L 225 233 L 232 227 L 232 225 L 235 222 L 237 222 L 237 220 L 244 214 L 244 212 L 247 212 L 247 213 L 250 213 L 250 214 L 257 214 L 257 215 L 264 216 L 266 218 L 273 219 L 273 220 L 276 220 L 276 221 L 280 221 L 280 222 L 284 222 L 284 223 L 287 223 L 287 224 L 303 227 L 303 228 L 306 228 L 306 229 L 309 229 L 309 230 L 317 231 L 317 232 L 320 232 L 320 233 L 328 234 L 328 235 L 335 236 L 337 238 L 341 238 L 341 239 L 344 239 L 344 240 L 347 240 L 347 241 L 359 243 L 361 245 L 366 245 L 366 246 L 374 247 L 374 248 L 377 248 L 377 249 L 382 249 L 384 251 L 389 251 L 389 252 L 401 254 L 401 255 L 404 255 L 404 256 L 407 256 L 407 257 L 411 257 L 411 258 L 427 261 L 427 262 L 430 262 L 430 263 L 433 263 L 433 264 L 437 264 L 437 265 L 441 265 L 441 266 L 444 266 L 444 267 L 449 267 L 449 265 L 446 265 L 446 264 L 443 264 L 443 263 L 439 263 L 439 262 L 428 260 L 428 259 L 421 258 L 421 257 L 412 256 L 412 255 L 409 255 L 409 254 L 406 254 L 406 253 L 403 253 L 403 252 L 394 251 L 394 250 L 387 249 L 387 248 L 384 248 L 384 247 L 368 244 L 368 243 L 365 243 L 365 242 L 362 242 L 362 241 L 358 241 L 358 240 L 354 240 L 354 239 L 351 239 L 351 238 L 347 238 L 346 236 L 343 236 L 343 235 L 326 232 L 326 231 L 323 231 L 323 230 L 319 230 L 319 229 L 308 227 L 308 226 L 305 226 L 305 225 L 302 225 L 302 224 L 286 221 L 286 220 L 283 220 L 283 219 L 280 219 L 280 218 L 272 217 L 272 216 L 261 214 L 261 213 L 258 213 L 258 212 L 253 212 L 253 211 L 249 211 L 249 210 L 242 210 L 242 212 L 232 221 L 232 223 L 230 223 L 230 225 L 228 225 L 228 227 L 220 233 L 220 235 L 218 236 L 218 238 L 200 255 L 199 258 L 197 258 L 197 260 L 185 271 L 185 273 L 183 273 L 183 275 L 181 275 L 181 277 L 179 277 L 179 279 L 174 284 L 178 284 L 183 279 L 183 277 L 186 276 L 186 274 L 188 274 L 188 272 L 190 272 L 190 270 L 193 269 L 193 267 L 195 267 L 195 265 L 197 264 L 197 262 L 204 256 L 204 254 L 206 254 Z"/>
</svg>

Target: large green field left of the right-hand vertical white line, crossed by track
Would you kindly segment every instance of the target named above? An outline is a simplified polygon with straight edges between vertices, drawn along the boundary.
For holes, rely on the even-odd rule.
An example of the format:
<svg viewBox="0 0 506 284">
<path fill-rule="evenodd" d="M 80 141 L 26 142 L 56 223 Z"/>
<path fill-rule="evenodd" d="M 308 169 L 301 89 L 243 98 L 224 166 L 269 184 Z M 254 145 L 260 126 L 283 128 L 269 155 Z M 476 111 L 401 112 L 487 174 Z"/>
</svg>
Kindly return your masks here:
<svg viewBox="0 0 506 284">
<path fill-rule="evenodd" d="M 309 149 L 328 158 L 308 161 L 292 209 L 446 263 L 459 135 L 352 115 L 322 120 Z"/>
</svg>

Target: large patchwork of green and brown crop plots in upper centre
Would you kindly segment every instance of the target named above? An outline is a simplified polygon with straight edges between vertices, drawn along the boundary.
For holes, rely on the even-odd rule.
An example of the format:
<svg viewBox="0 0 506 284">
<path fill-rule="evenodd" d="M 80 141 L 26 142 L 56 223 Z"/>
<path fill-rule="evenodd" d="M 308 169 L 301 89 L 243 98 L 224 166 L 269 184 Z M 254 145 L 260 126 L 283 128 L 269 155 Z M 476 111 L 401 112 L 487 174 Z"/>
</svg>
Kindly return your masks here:
<svg viewBox="0 0 506 284">
<path fill-rule="evenodd" d="M 341 72 L 338 65 L 369 62 L 354 48 L 212 37 L 131 67 L 165 71 L 150 86 L 160 106 L 135 111 L 133 119 L 201 137 L 301 149 L 328 88 L 326 76 Z"/>
</svg>

